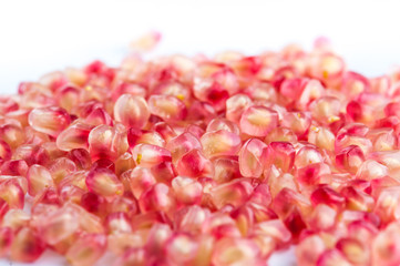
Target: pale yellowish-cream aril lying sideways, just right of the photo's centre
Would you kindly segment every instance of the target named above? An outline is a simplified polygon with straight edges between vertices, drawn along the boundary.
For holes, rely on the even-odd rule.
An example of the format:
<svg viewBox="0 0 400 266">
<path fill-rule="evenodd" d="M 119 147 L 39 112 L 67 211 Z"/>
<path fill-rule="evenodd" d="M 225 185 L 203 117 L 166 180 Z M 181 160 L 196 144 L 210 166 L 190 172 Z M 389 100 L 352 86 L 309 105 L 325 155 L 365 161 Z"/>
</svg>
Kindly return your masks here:
<svg viewBox="0 0 400 266">
<path fill-rule="evenodd" d="M 201 142 L 207 157 L 236 155 L 242 145 L 239 135 L 226 130 L 207 132 L 202 136 Z"/>
</svg>

